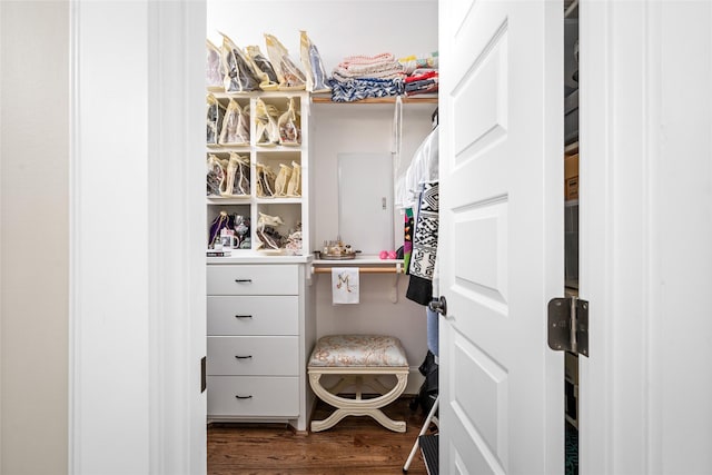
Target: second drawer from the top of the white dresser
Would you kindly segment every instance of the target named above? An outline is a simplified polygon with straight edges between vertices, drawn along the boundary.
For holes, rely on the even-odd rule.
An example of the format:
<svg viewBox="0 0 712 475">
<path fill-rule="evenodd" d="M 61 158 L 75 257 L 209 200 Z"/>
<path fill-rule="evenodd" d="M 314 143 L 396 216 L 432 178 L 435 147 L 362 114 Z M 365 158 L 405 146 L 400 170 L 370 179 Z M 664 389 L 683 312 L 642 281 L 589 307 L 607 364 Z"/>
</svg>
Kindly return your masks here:
<svg viewBox="0 0 712 475">
<path fill-rule="evenodd" d="M 209 296 L 208 335 L 298 335 L 299 297 Z"/>
</svg>

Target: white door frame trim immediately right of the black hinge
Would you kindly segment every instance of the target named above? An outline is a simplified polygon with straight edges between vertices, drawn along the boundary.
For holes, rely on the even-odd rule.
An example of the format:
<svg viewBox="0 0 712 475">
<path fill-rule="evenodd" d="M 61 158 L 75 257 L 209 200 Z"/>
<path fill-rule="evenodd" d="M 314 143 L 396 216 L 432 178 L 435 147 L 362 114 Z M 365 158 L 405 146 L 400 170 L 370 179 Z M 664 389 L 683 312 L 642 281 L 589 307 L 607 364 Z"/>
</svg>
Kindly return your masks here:
<svg viewBox="0 0 712 475">
<path fill-rule="evenodd" d="M 660 2 L 582 0 L 580 11 L 580 296 L 591 355 L 578 359 L 580 473 L 651 473 Z"/>
</svg>

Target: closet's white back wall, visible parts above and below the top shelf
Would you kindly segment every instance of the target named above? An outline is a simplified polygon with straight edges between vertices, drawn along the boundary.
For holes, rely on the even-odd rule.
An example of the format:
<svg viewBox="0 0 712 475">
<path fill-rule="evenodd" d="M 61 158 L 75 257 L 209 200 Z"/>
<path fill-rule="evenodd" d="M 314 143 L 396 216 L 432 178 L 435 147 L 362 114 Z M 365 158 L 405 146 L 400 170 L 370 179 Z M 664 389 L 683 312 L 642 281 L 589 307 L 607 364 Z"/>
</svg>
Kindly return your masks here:
<svg viewBox="0 0 712 475">
<path fill-rule="evenodd" d="M 226 33 L 236 44 L 258 44 L 276 36 L 299 63 L 299 30 L 317 46 L 327 72 L 345 57 L 392 52 L 396 58 L 437 51 L 437 2 L 428 1 L 208 1 L 208 38 L 219 47 Z M 436 105 L 405 105 L 402 157 L 408 160 L 431 131 Z M 315 200 L 314 248 L 338 234 L 337 155 L 392 151 L 394 106 L 313 105 L 310 164 Z M 367 184 L 364 184 L 367 186 Z M 395 247 L 403 245 L 403 217 L 395 217 Z M 364 222 L 364 226 L 368 226 Z M 360 304 L 333 306 L 328 275 L 317 277 L 317 336 L 386 333 L 399 337 L 413 368 L 427 352 L 425 308 L 405 298 L 407 276 L 398 281 L 398 303 L 389 300 L 395 275 L 362 275 Z M 415 369 L 414 369 L 415 372 Z M 414 373 L 412 372 L 412 374 Z M 408 390 L 417 389 L 414 379 Z"/>
</svg>

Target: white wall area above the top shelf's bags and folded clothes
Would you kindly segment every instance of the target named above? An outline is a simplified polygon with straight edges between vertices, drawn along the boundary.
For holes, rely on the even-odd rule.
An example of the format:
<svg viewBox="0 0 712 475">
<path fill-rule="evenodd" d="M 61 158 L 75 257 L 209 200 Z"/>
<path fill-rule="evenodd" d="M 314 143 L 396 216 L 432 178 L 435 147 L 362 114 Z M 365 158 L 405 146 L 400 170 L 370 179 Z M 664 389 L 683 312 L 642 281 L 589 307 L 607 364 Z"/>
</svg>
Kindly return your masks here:
<svg viewBox="0 0 712 475">
<path fill-rule="evenodd" d="M 265 33 L 279 39 L 299 62 L 305 30 L 330 71 L 343 58 L 392 52 L 397 58 L 437 51 L 436 0 L 208 0 L 208 39 L 227 34 L 237 46 L 258 44 Z"/>
</svg>

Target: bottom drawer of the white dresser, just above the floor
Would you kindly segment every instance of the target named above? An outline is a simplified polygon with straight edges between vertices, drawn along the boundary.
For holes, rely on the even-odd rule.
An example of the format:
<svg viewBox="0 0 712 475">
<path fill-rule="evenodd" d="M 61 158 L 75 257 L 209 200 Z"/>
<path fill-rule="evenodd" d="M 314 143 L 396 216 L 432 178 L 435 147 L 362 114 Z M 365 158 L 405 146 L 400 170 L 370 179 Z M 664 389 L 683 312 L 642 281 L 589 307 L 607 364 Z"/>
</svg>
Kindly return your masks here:
<svg viewBox="0 0 712 475">
<path fill-rule="evenodd" d="M 209 416 L 299 416 L 298 377 L 208 376 Z"/>
</svg>

